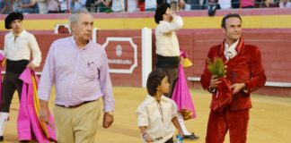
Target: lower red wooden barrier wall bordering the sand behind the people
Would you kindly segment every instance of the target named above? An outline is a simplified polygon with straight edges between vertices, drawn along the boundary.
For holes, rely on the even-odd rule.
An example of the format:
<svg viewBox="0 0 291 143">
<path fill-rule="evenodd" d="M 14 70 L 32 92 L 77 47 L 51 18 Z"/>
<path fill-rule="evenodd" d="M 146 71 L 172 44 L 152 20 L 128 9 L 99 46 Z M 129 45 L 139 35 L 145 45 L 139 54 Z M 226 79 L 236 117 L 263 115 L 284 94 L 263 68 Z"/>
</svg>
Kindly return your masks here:
<svg viewBox="0 0 291 143">
<path fill-rule="evenodd" d="M 37 71 L 41 71 L 45 57 L 48 53 L 48 48 L 51 43 L 57 38 L 64 38 L 68 35 L 49 35 L 49 34 L 36 34 L 40 50 L 42 51 L 43 60 L 40 68 Z M 110 73 L 112 83 L 114 86 L 132 86 L 141 87 L 141 30 L 101 30 L 97 32 L 97 42 L 104 44 L 106 38 L 110 37 L 122 37 L 132 38 L 133 43 L 137 45 L 137 67 L 129 73 Z M 178 38 L 181 48 L 183 48 L 189 55 L 189 58 L 194 63 L 192 67 L 186 68 L 185 72 L 187 77 L 199 77 L 204 68 L 207 51 L 210 46 L 220 44 L 223 40 L 223 34 L 196 34 L 196 33 L 178 33 Z M 243 33 L 245 42 L 260 47 L 262 54 L 262 62 L 265 68 L 268 81 L 276 82 L 291 82 L 291 33 Z M 154 47 L 154 34 L 153 34 L 153 67 L 155 63 L 155 47 Z M 4 44 L 4 36 L 0 36 L 0 45 Z M 122 44 L 121 46 L 127 45 Z M 115 46 L 106 50 L 108 56 L 115 56 Z M 124 55 L 131 55 L 130 51 L 123 51 Z M 114 68 L 114 67 L 110 67 Z M 189 82 L 190 88 L 199 88 L 198 82 Z M 276 87 L 264 87 L 260 88 L 257 93 L 291 97 L 291 88 L 276 88 Z"/>
</svg>

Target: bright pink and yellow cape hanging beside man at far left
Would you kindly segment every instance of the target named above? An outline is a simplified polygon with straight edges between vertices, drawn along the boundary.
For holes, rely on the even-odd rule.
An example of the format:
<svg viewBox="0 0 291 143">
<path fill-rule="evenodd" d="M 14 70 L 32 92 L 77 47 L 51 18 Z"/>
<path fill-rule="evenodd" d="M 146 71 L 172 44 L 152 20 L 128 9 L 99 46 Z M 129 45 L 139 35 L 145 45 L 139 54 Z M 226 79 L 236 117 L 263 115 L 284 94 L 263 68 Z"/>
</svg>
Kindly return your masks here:
<svg viewBox="0 0 291 143">
<path fill-rule="evenodd" d="M 18 140 L 37 140 L 39 143 L 57 142 L 55 122 L 49 115 L 49 122 L 40 122 L 40 104 L 37 96 L 39 78 L 34 71 L 25 69 L 20 78 L 23 80 L 22 99 L 17 119 Z"/>
</svg>

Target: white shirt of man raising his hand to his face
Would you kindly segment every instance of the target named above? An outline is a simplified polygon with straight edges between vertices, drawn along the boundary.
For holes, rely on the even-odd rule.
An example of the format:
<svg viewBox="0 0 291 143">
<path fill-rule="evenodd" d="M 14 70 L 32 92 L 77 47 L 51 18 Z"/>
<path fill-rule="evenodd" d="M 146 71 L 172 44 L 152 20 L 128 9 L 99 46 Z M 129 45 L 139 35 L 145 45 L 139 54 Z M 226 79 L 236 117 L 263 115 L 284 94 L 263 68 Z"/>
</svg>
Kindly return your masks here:
<svg viewBox="0 0 291 143">
<path fill-rule="evenodd" d="M 173 14 L 172 22 L 160 21 L 155 28 L 155 46 L 157 55 L 179 56 L 180 48 L 176 30 L 181 29 L 183 20 L 181 16 Z"/>
</svg>

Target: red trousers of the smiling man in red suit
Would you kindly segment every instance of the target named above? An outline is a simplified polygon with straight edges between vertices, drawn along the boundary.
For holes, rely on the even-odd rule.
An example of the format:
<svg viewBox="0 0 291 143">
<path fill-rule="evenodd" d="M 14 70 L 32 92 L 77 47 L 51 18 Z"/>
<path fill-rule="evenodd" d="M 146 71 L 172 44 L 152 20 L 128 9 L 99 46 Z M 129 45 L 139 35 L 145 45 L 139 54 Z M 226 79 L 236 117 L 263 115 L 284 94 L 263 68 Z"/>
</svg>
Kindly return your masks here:
<svg viewBox="0 0 291 143">
<path fill-rule="evenodd" d="M 207 125 L 207 143 L 223 143 L 229 130 L 230 143 L 245 143 L 250 118 L 250 109 L 231 111 L 227 106 L 223 112 L 210 111 Z"/>
</svg>

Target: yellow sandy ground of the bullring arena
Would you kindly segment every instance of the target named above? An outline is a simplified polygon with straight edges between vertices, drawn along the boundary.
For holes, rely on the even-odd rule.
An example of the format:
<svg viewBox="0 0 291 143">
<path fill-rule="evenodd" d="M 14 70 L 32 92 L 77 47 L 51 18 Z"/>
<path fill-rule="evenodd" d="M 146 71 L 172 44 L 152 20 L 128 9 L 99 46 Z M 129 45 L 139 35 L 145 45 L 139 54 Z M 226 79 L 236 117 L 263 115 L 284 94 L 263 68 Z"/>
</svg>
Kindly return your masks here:
<svg viewBox="0 0 291 143">
<path fill-rule="evenodd" d="M 200 139 L 185 143 L 204 143 L 209 114 L 210 94 L 200 89 L 191 90 L 192 99 L 198 118 L 187 121 L 188 130 Z M 145 88 L 114 88 L 116 99 L 115 121 L 110 129 L 98 125 L 98 143 L 138 143 L 142 142 L 137 128 L 136 109 L 146 94 Z M 50 108 L 54 105 L 50 99 Z M 248 143 L 289 143 L 291 139 L 291 98 L 252 95 L 251 120 L 248 130 Z M 16 120 L 18 114 L 18 97 L 15 94 L 11 106 L 10 121 L 4 130 L 4 142 L 17 142 Z M 225 143 L 229 143 L 228 135 Z"/>
</svg>

